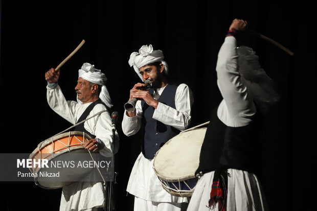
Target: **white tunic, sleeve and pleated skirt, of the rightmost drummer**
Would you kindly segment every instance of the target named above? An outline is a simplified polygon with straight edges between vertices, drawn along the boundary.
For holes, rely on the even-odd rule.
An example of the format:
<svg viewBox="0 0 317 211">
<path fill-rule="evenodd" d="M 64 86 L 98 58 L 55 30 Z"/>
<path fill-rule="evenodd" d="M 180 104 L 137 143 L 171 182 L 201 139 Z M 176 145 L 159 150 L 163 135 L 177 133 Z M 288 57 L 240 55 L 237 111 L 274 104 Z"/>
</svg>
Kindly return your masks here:
<svg viewBox="0 0 317 211">
<path fill-rule="evenodd" d="M 242 127 L 248 125 L 256 113 L 253 98 L 243 84 L 238 72 L 237 41 L 226 37 L 217 61 L 218 87 L 223 97 L 217 116 L 225 125 Z M 261 185 L 249 172 L 229 169 L 227 210 L 267 210 Z M 203 174 L 196 184 L 188 211 L 211 210 L 208 207 L 214 172 Z M 217 206 L 212 210 L 218 210 Z"/>
</svg>

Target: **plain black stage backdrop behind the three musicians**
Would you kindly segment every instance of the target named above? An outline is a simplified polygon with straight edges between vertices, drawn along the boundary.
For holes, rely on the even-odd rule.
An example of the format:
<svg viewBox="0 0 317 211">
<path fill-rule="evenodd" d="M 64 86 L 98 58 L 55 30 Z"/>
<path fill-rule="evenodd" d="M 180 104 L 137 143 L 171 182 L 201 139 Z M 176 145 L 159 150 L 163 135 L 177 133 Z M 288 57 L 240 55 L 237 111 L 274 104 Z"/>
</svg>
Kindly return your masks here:
<svg viewBox="0 0 317 211">
<path fill-rule="evenodd" d="M 257 52 L 281 95 L 265 120 L 259 179 L 270 210 L 312 210 L 311 169 L 316 166 L 312 5 L 304 1 L 4 0 L 1 10 L 1 153 L 31 153 L 39 142 L 71 126 L 49 108 L 44 73 L 85 39 L 62 66 L 59 84 L 66 99 L 75 100 L 78 69 L 84 62 L 95 64 L 108 78 L 114 109 L 120 113 L 116 210 L 133 209 L 133 197 L 125 189 L 140 153 L 140 135 L 127 137 L 121 130 L 123 105 L 130 88 L 140 82 L 128 65 L 130 54 L 143 44 L 164 52 L 170 76 L 193 91 L 195 126 L 209 121 L 211 109 L 221 100 L 215 67 L 224 35 L 234 18 L 247 20 L 251 29 L 295 53 L 290 56 L 249 34 L 239 40 Z M 5 173 L 2 169 L 1 174 Z M 61 189 L 1 182 L 1 195 L 0 210 L 58 210 Z"/>
</svg>

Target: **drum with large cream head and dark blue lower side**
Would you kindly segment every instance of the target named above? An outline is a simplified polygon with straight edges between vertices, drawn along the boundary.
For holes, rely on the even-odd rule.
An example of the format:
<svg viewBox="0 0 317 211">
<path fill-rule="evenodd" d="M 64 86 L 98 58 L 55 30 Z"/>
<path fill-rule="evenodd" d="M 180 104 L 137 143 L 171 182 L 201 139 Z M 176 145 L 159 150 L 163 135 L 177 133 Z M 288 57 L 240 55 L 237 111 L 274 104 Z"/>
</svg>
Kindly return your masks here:
<svg viewBox="0 0 317 211">
<path fill-rule="evenodd" d="M 153 169 L 163 188 L 173 196 L 191 197 L 198 178 L 200 148 L 207 128 L 188 129 L 171 138 L 156 152 Z"/>
</svg>

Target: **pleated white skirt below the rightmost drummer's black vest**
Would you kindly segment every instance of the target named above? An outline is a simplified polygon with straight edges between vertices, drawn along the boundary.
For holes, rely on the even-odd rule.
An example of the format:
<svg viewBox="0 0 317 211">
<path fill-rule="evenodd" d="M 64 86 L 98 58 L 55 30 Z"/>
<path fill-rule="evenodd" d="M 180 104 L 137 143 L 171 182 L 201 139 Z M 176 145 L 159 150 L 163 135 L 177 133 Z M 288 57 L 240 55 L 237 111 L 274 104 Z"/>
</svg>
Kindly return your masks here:
<svg viewBox="0 0 317 211">
<path fill-rule="evenodd" d="M 228 169 L 227 211 L 267 211 L 258 178 L 249 172 Z M 204 174 L 197 182 L 187 211 L 214 211 L 208 207 L 214 172 Z"/>
</svg>

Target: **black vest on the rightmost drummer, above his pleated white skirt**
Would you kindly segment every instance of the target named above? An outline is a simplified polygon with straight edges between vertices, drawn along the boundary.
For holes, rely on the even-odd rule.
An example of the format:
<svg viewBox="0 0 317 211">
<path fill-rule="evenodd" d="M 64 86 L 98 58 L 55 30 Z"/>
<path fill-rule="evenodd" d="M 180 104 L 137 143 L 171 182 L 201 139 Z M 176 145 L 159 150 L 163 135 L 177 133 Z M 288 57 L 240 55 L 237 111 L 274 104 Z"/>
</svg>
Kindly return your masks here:
<svg viewBox="0 0 317 211">
<path fill-rule="evenodd" d="M 261 123 L 261 115 L 257 112 L 250 124 L 229 127 L 219 120 L 215 109 L 201 146 L 199 167 L 195 175 L 217 168 L 256 173 L 259 166 Z"/>
</svg>

